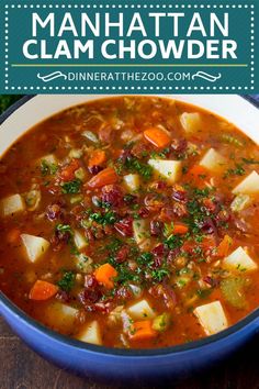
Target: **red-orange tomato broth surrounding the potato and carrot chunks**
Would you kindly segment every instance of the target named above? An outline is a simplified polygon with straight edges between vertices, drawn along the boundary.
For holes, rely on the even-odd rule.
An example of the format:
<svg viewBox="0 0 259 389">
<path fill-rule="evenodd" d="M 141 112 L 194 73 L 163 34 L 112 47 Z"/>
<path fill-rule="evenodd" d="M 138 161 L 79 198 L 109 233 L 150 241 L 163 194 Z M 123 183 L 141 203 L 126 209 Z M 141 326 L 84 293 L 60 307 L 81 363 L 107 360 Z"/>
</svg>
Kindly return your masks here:
<svg viewBox="0 0 259 389">
<path fill-rule="evenodd" d="M 202 125 L 198 131 L 189 134 L 184 131 L 179 120 L 183 112 L 200 114 Z M 171 145 L 166 149 L 159 149 L 143 136 L 145 130 L 156 126 L 162 126 L 171 136 Z M 99 142 L 95 144 L 82 136 L 85 131 L 97 134 Z M 223 141 L 223 134 L 229 135 L 230 141 L 229 138 L 228 142 Z M 125 144 L 127 144 L 126 147 Z M 240 145 L 245 145 L 245 147 Z M 189 170 L 199 164 L 211 147 L 227 159 L 226 167 L 221 173 L 209 171 L 207 177 L 190 177 Z M 91 152 L 97 148 L 105 151 L 106 160 L 102 163 L 101 167 L 95 168 L 95 171 L 91 171 L 88 168 L 88 160 Z M 191 152 L 188 152 L 190 148 Z M 78 192 L 78 188 L 74 187 L 75 193 L 63 193 L 65 187 L 60 171 L 71 162 L 72 157 L 69 157 L 71 149 L 82 149 L 82 155 L 77 159 L 83 169 L 83 178 L 80 179 Z M 147 160 L 154 156 L 154 153 L 156 158 L 162 160 L 165 157 L 169 160 L 181 160 L 183 173 L 181 178 L 177 180 L 177 185 L 183 188 L 183 200 L 181 197 L 180 200 L 177 199 L 177 196 L 180 194 L 176 182 L 168 184 L 165 177 L 164 179 L 157 178 L 154 170 L 150 173 L 150 169 L 147 169 Z M 58 160 L 54 174 L 49 174 L 49 171 L 45 174 L 43 166 L 37 163 L 41 157 L 49 154 L 54 154 Z M 131 156 L 135 165 L 132 163 L 126 165 L 127 155 Z M 244 160 L 250 160 L 250 163 Z M 25 193 L 30 191 L 32 185 L 35 185 L 36 189 L 41 191 L 41 201 L 34 211 L 26 209 L 21 213 L 1 218 L 1 290 L 34 319 L 72 337 L 78 337 L 80 331 L 88 323 L 97 320 L 102 344 L 112 347 L 164 347 L 204 337 L 206 334 L 193 310 L 216 300 L 222 303 L 228 325 L 236 323 L 258 307 L 258 269 L 249 273 L 222 271 L 223 259 L 216 257 L 215 253 L 210 252 L 210 248 L 206 251 L 199 248 L 202 242 L 195 242 L 194 236 L 195 234 L 202 235 L 203 242 L 209 237 L 215 238 L 215 249 L 227 234 L 233 238 L 229 253 L 239 246 L 247 247 L 249 256 L 258 264 L 258 196 L 252 194 L 251 203 L 244 210 L 235 213 L 230 210 L 230 203 L 235 198 L 232 189 L 252 170 L 258 170 L 258 165 L 251 163 L 258 160 L 258 146 L 234 125 L 200 108 L 161 98 L 120 97 L 97 100 L 47 119 L 16 141 L 0 162 L 0 200 L 14 193 L 26 198 Z M 109 184 L 105 190 L 103 187 L 89 187 L 88 182 L 99 171 L 103 171 L 108 167 L 113 167 L 116 170 L 117 181 Z M 139 176 L 139 190 L 131 192 L 126 189 L 123 176 L 127 174 Z M 202 207 L 203 199 L 218 197 L 217 200 L 211 200 L 219 208 L 210 212 L 210 218 L 216 218 L 221 211 L 224 211 L 229 215 L 228 220 L 225 221 L 224 214 L 221 214 L 223 221 L 219 219 L 216 224 L 213 219 L 213 227 L 216 229 L 213 233 L 206 233 L 202 227 L 195 225 L 196 230 L 189 231 L 188 237 L 184 234 L 178 235 L 177 246 L 171 249 L 176 248 L 178 253 L 171 259 L 168 259 L 170 254 L 168 247 L 166 247 L 164 255 L 149 254 L 157 245 L 160 243 L 165 245 L 165 241 L 167 241 L 164 233 L 165 221 L 159 219 L 161 209 L 166 209 L 164 213 L 166 212 L 168 220 L 173 223 L 188 224 L 190 220 L 187 220 L 190 219 L 190 214 L 187 209 L 193 200 L 193 190 L 209 188 L 204 181 L 210 182 L 210 179 L 213 179 L 213 190 L 198 196 L 199 207 Z M 76 196 L 81 196 L 81 199 L 71 203 L 71 198 Z M 99 204 L 93 201 L 93 197 L 98 198 Z M 126 197 L 127 200 L 125 200 Z M 111 202 L 109 208 L 98 207 L 105 201 Z M 55 214 L 55 210 L 49 209 L 54 204 L 58 205 L 57 214 Z M 184 213 L 183 211 L 187 214 L 181 214 Z M 120 229 L 114 227 L 115 223 L 112 219 L 114 215 L 115 223 L 123 221 Z M 162 225 L 160 225 L 160 232 L 146 236 L 149 240 L 148 249 L 139 249 L 132 236 L 131 225 L 134 220 L 138 220 L 137 218 L 146 220 L 149 225 L 147 235 L 150 234 L 151 222 L 159 221 Z M 82 224 L 82 220 L 85 224 Z M 170 222 L 167 224 L 167 227 L 170 229 Z M 70 230 L 57 232 L 58 225 L 69 226 Z M 158 225 L 156 229 L 159 230 Z M 156 229 L 154 225 L 154 230 Z M 50 243 L 47 252 L 35 263 L 30 263 L 21 237 L 15 237 L 16 232 L 13 233 L 14 241 L 8 240 L 8 234 L 12 230 L 19 230 L 22 234 L 44 237 Z M 80 231 L 88 242 L 83 249 L 76 251 L 75 244 L 71 243 L 75 230 Z M 120 241 L 119 248 L 115 247 L 119 241 L 114 240 Z M 179 246 L 179 242 L 182 243 L 181 246 Z M 191 253 L 184 252 L 183 256 L 182 246 L 184 243 Z M 120 253 L 122 248 L 124 252 Z M 193 254 L 193 248 L 194 252 L 196 249 L 196 254 Z M 88 269 L 88 273 L 83 273 L 76 267 L 75 257 L 80 253 L 93 260 L 91 271 Z M 151 255 L 151 259 L 144 258 L 146 265 L 142 263 L 145 263 L 144 259 L 136 264 L 136 258 L 140 258 L 143 254 L 145 256 L 145 253 Z M 202 260 L 200 260 L 199 253 L 202 253 Z M 88 277 L 87 275 L 93 275 L 95 268 L 108 262 L 115 267 L 119 274 L 119 280 L 115 278 L 112 282 L 114 288 L 105 288 L 97 280 L 93 281 L 91 288 L 86 288 L 85 278 Z M 217 266 L 216 263 L 218 263 Z M 140 280 L 136 280 L 137 273 L 128 268 L 128 264 L 140 268 Z M 161 269 L 165 271 L 159 273 Z M 188 270 L 184 273 L 183 269 Z M 218 274 L 213 273 L 215 269 Z M 74 277 L 69 291 L 63 290 L 60 286 L 65 270 L 71 273 Z M 154 270 L 158 278 L 153 278 L 155 277 L 151 276 Z M 185 285 L 184 282 L 178 285 L 177 279 L 188 273 L 191 275 L 189 275 L 190 280 Z M 204 281 L 212 274 L 215 284 L 213 286 Z M 126 277 L 133 277 L 133 280 L 128 280 Z M 237 309 L 226 301 L 221 288 L 223 279 L 235 277 L 248 279 L 246 287 L 243 288 L 246 303 L 241 309 Z M 30 290 L 36 280 L 57 285 L 59 292 L 46 301 L 31 300 L 29 298 Z M 207 279 L 207 281 L 211 280 Z M 140 288 L 140 296 L 134 297 L 128 284 Z M 157 291 L 151 292 L 150 290 L 165 285 L 168 289 L 159 296 Z M 88 290 L 86 291 L 86 289 Z M 83 300 L 81 296 L 85 292 Z M 170 307 L 167 305 L 167 298 L 170 301 Z M 128 307 L 142 300 L 148 301 L 156 316 L 164 312 L 169 313 L 170 323 L 164 331 L 157 331 L 155 337 L 134 342 L 128 335 L 128 330 L 123 329 L 121 319 L 116 323 L 110 323 L 109 318 L 116 307 L 123 307 L 123 311 L 127 312 Z M 48 309 L 56 301 L 78 310 L 72 324 L 66 322 L 65 319 L 60 321 L 56 321 L 55 316 L 49 319 L 52 314 L 49 315 Z M 134 321 L 130 315 L 131 320 Z"/>
</svg>

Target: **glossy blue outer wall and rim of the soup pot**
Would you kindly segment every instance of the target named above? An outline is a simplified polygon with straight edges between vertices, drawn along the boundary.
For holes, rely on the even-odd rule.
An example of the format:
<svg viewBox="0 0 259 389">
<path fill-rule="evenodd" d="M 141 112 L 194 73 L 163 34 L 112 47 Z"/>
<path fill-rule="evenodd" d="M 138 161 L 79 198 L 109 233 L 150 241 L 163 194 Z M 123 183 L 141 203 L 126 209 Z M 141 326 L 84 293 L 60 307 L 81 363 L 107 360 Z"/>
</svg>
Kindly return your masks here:
<svg viewBox="0 0 259 389">
<path fill-rule="evenodd" d="M 16 102 L 0 122 L 30 98 Z M 131 379 L 131 382 L 165 381 L 190 375 L 226 357 L 259 332 L 257 309 L 229 329 L 196 342 L 156 349 L 119 349 L 63 336 L 34 321 L 2 292 L 0 313 L 30 347 L 63 369 L 103 380 Z"/>
</svg>

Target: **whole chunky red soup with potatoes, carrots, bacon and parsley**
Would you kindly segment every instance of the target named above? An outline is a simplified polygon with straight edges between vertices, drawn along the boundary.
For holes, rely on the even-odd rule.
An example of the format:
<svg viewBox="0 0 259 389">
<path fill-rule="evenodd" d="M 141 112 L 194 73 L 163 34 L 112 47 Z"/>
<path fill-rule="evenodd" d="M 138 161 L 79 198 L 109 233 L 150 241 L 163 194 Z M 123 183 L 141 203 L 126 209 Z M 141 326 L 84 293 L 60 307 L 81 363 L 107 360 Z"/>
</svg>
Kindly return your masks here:
<svg viewBox="0 0 259 389">
<path fill-rule="evenodd" d="M 63 111 L 0 160 L 0 287 L 82 342 L 154 348 L 259 304 L 259 148 L 183 102 Z"/>
</svg>

